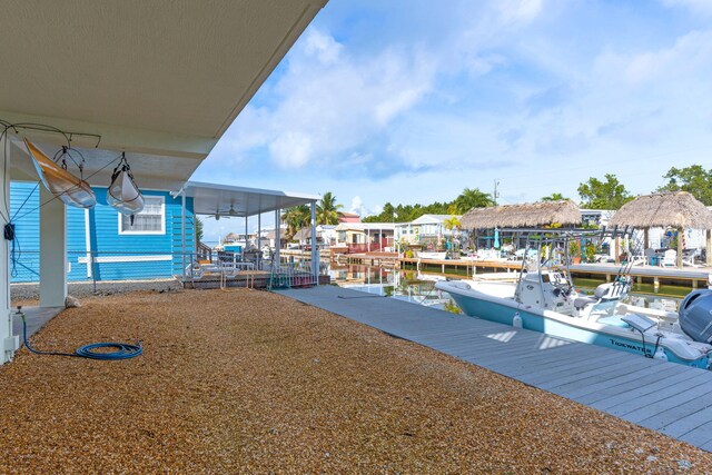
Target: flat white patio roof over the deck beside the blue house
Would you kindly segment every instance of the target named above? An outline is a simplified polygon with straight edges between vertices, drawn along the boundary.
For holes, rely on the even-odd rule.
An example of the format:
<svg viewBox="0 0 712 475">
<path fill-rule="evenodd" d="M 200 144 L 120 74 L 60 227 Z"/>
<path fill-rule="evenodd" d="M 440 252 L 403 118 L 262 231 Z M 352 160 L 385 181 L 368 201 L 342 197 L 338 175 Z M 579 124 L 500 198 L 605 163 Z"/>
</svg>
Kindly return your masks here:
<svg viewBox="0 0 712 475">
<path fill-rule="evenodd" d="M 316 195 L 276 191 L 230 185 L 188 181 L 186 197 L 192 198 L 194 212 L 220 217 L 249 217 L 319 200 Z"/>
</svg>

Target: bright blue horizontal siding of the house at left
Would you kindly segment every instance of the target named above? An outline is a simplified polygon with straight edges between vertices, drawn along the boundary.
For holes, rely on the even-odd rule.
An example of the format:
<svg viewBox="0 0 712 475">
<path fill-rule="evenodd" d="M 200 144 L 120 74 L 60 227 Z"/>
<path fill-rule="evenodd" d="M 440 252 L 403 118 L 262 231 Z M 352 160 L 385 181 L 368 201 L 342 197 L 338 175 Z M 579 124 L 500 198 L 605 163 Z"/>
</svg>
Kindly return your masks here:
<svg viewBox="0 0 712 475">
<path fill-rule="evenodd" d="M 22 254 L 16 259 L 18 270 L 11 279 L 14 283 L 39 279 L 39 189 L 34 185 L 10 185 L 11 212 L 16 212 L 29 197 L 18 212 L 18 217 L 21 217 L 17 220 L 18 243 Z M 181 274 L 180 199 L 175 199 L 165 191 L 144 191 L 145 196 L 162 197 L 165 232 L 120 234 L 119 214 L 106 205 L 106 188 L 93 190 L 98 201 L 96 207 L 88 211 L 67 208 L 68 280 L 150 279 Z M 186 251 L 191 253 L 195 249 L 191 198 L 186 199 Z M 92 265 L 88 258 L 88 249 L 95 258 Z"/>
</svg>

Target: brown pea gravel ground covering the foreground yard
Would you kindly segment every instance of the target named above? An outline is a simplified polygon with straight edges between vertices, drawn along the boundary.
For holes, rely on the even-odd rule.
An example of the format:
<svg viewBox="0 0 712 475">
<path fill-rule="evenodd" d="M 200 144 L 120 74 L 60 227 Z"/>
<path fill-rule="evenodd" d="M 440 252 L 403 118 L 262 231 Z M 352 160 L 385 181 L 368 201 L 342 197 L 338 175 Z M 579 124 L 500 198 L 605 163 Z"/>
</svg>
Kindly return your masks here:
<svg viewBox="0 0 712 475">
<path fill-rule="evenodd" d="M 266 291 L 82 299 L 0 367 L 2 473 L 709 473 L 712 455 Z"/>
</svg>

